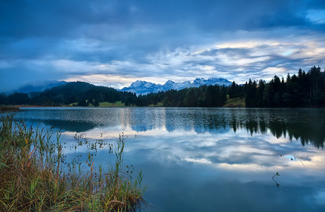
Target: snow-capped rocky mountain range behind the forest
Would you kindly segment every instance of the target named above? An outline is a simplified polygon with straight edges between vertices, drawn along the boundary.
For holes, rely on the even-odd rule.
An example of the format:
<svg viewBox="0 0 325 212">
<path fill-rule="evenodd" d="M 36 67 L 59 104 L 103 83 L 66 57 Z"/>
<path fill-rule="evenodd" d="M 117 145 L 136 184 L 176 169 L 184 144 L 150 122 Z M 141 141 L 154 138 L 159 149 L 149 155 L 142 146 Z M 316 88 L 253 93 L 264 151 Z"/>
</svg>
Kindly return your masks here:
<svg viewBox="0 0 325 212">
<path fill-rule="evenodd" d="M 131 83 L 131 86 L 124 87 L 122 91 L 129 91 L 136 93 L 136 95 L 147 94 L 147 93 L 158 93 L 159 91 L 166 90 L 182 90 L 184 88 L 199 87 L 204 85 L 219 85 L 219 86 L 230 86 L 231 82 L 225 78 L 196 78 L 193 83 L 190 81 L 184 81 L 182 83 L 175 83 L 174 81 L 167 81 L 165 84 L 155 84 L 146 81 L 135 81 Z"/>
</svg>

